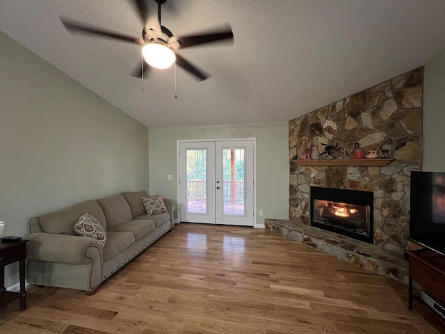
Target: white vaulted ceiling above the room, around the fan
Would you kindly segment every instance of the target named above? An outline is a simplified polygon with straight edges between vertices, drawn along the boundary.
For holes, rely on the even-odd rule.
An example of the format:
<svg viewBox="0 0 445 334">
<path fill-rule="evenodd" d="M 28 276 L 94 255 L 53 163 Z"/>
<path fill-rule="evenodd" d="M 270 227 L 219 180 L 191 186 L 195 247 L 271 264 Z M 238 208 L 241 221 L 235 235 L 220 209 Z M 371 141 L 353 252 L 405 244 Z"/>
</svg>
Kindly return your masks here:
<svg viewBox="0 0 445 334">
<path fill-rule="evenodd" d="M 73 35 L 59 19 L 140 37 L 133 9 L 124 0 L 4 0 L 0 30 L 147 127 L 290 120 L 445 48 L 443 0 L 168 0 L 162 24 L 175 35 L 225 22 L 234 31 L 234 45 L 179 51 L 211 78 L 178 68 L 175 99 L 173 67 L 153 71 L 141 93 L 129 75 L 140 46 Z"/>
</svg>

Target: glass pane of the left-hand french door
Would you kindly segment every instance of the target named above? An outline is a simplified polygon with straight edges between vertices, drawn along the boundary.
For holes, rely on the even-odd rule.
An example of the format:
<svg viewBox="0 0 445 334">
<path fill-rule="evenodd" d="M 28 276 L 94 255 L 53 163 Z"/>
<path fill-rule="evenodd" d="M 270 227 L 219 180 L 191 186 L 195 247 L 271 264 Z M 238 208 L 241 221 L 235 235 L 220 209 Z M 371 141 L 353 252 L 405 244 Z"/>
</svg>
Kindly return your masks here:
<svg viewBox="0 0 445 334">
<path fill-rule="evenodd" d="M 207 150 L 186 150 L 187 213 L 207 214 Z"/>
</svg>

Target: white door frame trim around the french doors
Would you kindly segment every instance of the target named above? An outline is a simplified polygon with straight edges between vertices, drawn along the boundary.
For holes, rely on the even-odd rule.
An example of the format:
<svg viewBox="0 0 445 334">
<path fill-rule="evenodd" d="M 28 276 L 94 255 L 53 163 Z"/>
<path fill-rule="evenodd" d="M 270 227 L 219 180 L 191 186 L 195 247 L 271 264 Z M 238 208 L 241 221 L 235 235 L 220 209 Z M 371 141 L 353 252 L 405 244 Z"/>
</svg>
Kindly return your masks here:
<svg viewBox="0 0 445 334">
<path fill-rule="evenodd" d="M 179 176 L 180 176 L 180 159 L 179 159 L 179 143 L 192 143 L 192 142 L 200 142 L 200 141 L 252 141 L 253 142 L 253 227 L 254 228 L 264 228 L 264 225 L 257 225 L 257 138 L 248 137 L 248 138 L 207 138 L 207 139 L 179 139 L 176 141 L 176 165 L 177 165 L 177 209 L 178 209 L 178 218 L 177 223 L 181 222 L 181 211 L 185 208 L 181 207 L 179 204 L 181 201 L 181 189 L 179 186 Z"/>
</svg>

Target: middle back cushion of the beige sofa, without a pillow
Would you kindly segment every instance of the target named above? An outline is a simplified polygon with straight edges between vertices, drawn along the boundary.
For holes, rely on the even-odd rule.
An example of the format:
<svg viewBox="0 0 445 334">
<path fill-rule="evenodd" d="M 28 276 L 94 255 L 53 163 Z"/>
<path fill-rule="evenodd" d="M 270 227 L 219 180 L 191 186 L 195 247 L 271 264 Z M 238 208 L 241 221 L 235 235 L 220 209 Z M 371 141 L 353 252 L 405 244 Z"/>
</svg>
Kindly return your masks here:
<svg viewBox="0 0 445 334">
<path fill-rule="evenodd" d="M 97 200 L 104 211 L 108 229 L 127 223 L 133 219 L 130 207 L 122 194 Z"/>
</svg>

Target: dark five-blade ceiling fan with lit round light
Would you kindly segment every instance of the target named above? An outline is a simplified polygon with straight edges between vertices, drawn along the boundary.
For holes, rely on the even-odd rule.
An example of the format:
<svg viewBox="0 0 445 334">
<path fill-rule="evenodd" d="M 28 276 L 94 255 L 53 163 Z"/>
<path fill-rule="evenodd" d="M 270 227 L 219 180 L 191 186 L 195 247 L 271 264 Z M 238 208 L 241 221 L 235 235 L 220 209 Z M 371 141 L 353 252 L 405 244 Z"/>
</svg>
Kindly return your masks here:
<svg viewBox="0 0 445 334">
<path fill-rule="evenodd" d="M 186 58 L 178 54 L 177 51 L 187 47 L 209 44 L 211 42 L 231 42 L 234 39 L 234 34 L 230 26 L 217 31 L 204 31 L 204 33 L 197 35 L 176 37 L 169 29 L 161 25 L 161 6 L 167 0 L 154 1 L 158 3 L 157 19 L 150 17 L 151 13 L 149 13 L 150 10 L 146 0 L 130 0 L 140 17 L 140 21 L 144 25 L 142 39 L 102 29 L 90 24 L 83 24 L 65 17 L 60 17 L 60 21 L 62 21 L 65 29 L 72 33 L 96 35 L 143 45 L 142 54 L 144 61 L 142 62 L 142 65 L 138 65 L 136 69 L 133 70 L 131 73 L 133 77 L 146 78 L 149 75 L 151 67 L 165 69 L 176 62 L 179 67 L 182 67 L 189 74 L 193 75 L 198 81 L 209 79 L 209 73 L 204 72 L 204 70 L 201 70 L 191 62 L 187 61 Z"/>
</svg>

